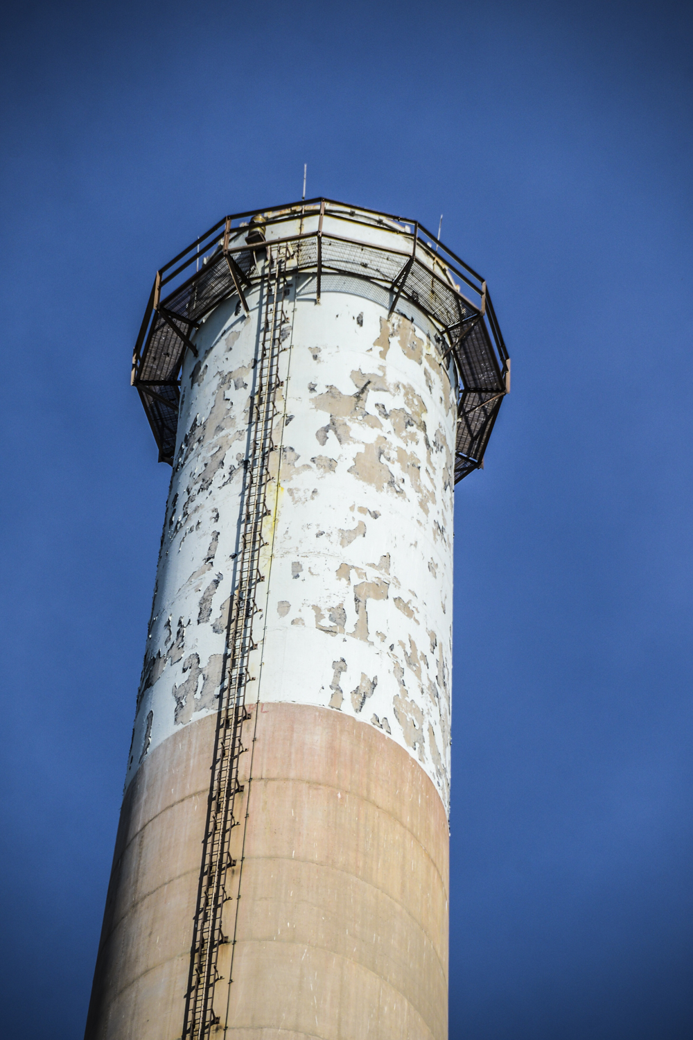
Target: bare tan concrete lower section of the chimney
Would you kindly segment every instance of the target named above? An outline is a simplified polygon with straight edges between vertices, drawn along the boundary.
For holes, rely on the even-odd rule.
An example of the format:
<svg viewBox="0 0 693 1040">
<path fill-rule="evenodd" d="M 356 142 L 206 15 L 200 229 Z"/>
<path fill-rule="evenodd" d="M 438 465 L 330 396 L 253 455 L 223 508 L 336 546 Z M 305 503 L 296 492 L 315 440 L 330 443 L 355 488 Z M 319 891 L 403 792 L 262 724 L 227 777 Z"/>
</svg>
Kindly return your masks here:
<svg viewBox="0 0 693 1040">
<path fill-rule="evenodd" d="M 156 748 L 125 797 L 86 1040 L 181 1037 L 214 724 Z M 226 1023 L 230 1040 L 444 1040 L 448 825 L 433 784 L 339 711 L 267 704 L 255 725 L 254 712 L 217 1035 Z M 241 762 L 247 777 L 249 750 Z"/>
</svg>

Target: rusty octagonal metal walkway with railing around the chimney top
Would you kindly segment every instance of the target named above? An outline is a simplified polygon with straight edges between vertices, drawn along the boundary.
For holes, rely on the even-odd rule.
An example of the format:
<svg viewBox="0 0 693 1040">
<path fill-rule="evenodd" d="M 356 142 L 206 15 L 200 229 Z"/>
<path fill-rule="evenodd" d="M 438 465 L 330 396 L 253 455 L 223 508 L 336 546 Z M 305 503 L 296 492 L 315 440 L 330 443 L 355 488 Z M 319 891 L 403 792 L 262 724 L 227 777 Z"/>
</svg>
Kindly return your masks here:
<svg viewBox="0 0 693 1040">
<path fill-rule="evenodd" d="M 247 310 L 267 246 L 281 243 L 290 248 L 292 269 L 313 276 L 316 302 L 325 278 L 342 275 L 379 287 L 390 314 L 407 306 L 406 316 L 411 309 L 425 316 L 458 379 L 455 482 L 480 467 L 510 389 L 510 359 L 486 283 L 418 222 L 329 199 L 276 206 L 261 217 L 257 210 L 225 216 L 157 271 L 131 382 L 159 460 L 174 464 L 181 365 L 186 349 L 196 355 L 192 332 L 231 296 Z"/>
</svg>

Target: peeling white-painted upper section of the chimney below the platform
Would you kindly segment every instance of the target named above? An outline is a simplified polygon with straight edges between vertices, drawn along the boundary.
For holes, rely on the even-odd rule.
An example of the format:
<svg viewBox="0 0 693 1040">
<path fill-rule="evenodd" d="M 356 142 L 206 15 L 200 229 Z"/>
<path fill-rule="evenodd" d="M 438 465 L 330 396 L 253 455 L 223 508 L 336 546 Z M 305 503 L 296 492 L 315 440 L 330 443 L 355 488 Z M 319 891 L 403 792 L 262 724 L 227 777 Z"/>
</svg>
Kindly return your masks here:
<svg viewBox="0 0 693 1040">
<path fill-rule="evenodd" d="M 314 704 L 376 726 L 446 805 L 450 769 L 454 392 L 439 349 L 358 284 L 290 279 L 246 699 Z M 220 305 L 186 356 L 128 781 L 177 728 L 216 709 L 239 551 L 249 317 Z M 407 308 L 409 310 L 409 308 Z M 425 328 L 425 321 L 422 320 Z"/>
</svg>

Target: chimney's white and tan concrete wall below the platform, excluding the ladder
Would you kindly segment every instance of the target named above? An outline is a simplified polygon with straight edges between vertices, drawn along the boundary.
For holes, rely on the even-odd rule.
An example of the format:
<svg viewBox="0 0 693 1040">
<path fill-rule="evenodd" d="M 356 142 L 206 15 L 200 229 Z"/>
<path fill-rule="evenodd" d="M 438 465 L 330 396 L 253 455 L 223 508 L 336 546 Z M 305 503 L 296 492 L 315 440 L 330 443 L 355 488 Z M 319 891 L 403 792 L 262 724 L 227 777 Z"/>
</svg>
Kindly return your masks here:
<svg viewBox="0 0 693 1040">
<path fill-rule="evenodd" d="M 454 380 L 416 307 L 329 274 L 317 305 L 290 267 L 214 1010 L 248 1040 L 444 1040 Z M 183 1025 L 266 285 L 183 364 L 87 1040 Z"/>
</svg>

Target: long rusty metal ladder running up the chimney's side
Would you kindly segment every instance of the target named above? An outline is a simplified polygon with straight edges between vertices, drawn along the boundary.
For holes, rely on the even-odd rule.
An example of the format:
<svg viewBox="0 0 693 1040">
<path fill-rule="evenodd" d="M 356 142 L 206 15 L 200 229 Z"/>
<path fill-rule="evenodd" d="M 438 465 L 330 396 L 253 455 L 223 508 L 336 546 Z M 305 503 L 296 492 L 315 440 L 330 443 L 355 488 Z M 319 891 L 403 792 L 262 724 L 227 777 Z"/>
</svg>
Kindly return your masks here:
<svg viewBox="0 0 693 1040">
<path fill-rule="evenodd" d="M 217 970 L 219 946 L 232 943 L 230 979 L 238 922 L 240 899 L 240 862 L 232 859 L 233 828 L 241 823 L 237 796 L 243 790 L 239 781 L 240 757 L 247 749 L 242 743 L 243 723 L 250 718 L 245 706 L 248 683 L 248 658 L 256 649 L 252 642 L 252 621 L 259 607 L 256 593 L 264 580 L 260 572 L 263 519 L 268 515 L 266 493 L 269 478 L 270 452 L 274 449 L 272 424 L 278 387 L 278 355 L 281 349 L 286 284 L 285 261 L 277 251 L 274 256 L 267 248 L 266 295 L 257 363 L 256 390 L 250 399 L 249 448 L 246 460 L 245 487 L 241 506 L 242 521 L 236 571 L 236 588 L 226 630 L 224 674 L 219 692 L 220 705 L 211 765 L 203 860 L 190 950 L 190 972 L 185 1002 L 182 1038 L 208 1040 L 219 1023 L 214 1009 L 214 991 L 221 977 Z M 230 891 L 233 888 L 234 892 Z M 236 899 L 234 934 L 230 938 L 221 929 L 223 905 Z"/>
</svg>

